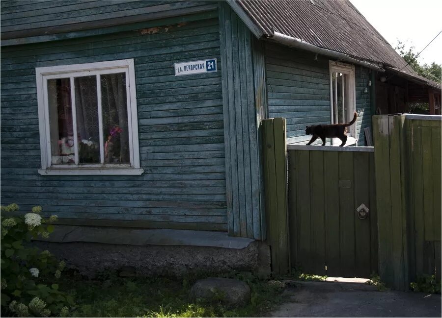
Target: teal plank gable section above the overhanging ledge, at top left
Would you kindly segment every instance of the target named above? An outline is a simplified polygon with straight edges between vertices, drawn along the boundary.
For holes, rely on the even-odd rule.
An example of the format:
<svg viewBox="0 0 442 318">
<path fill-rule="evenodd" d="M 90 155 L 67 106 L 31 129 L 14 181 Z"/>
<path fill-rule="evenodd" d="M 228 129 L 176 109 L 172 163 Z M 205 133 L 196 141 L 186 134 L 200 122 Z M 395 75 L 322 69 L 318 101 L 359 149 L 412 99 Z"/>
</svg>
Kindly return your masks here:
<svg viewBox="0 0 442 318">
<path fill-rule="evenodd" d="M 108 33 L 124 24 L 204 12 L 216 6 L 210 1 L 176 0 L 2 1 L 1 39 L 15 45 L 97 34 L 97 28 Z"/>
</svg>

